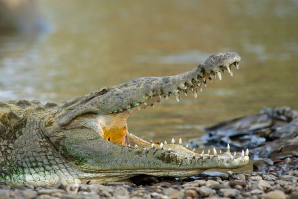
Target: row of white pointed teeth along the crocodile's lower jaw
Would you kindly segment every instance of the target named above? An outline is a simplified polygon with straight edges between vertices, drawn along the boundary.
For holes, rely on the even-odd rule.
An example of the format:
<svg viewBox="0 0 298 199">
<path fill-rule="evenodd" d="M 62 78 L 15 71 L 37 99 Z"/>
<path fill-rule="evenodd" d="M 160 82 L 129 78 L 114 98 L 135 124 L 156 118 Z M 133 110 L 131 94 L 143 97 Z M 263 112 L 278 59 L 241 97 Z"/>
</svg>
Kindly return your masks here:
<svg viewBox="0 0 298 199">
<path fill-rule="evenodd" d="M 167 142 L 164 141 L 164 144 L 167 144 Z M 175 139 L 174 138 L 172 138 L 171 144 L 175 144 Z M 181 138 L 179 139 L 179 145 L 182 145 L 182 139 Z M 129 144 L 129 145 L 127 145 L 127 147 L 131 148 L 131 145 Z M 186 145 L 185 147 L 188 148 L 188 145 Z M 134 148 L 140 151 L 140 149 L 139 149 L 139 147 L 138 147 L 137 144 L 135 145 Z M 161 142 L 159 144 L 159 147 L 158 148 L 155 147 L 154 143 L 151 143 L 150 149 L 162 149 L 163 150 L 163 143 Z M 144 148 L 143 150 L 147 150 L 147 148 Z M 194 152 L 193 153 L 193 158 L 196 157 L 195 156 L 195 150 L 196 149 L 194 148 L 193 149 L 193 152 Z M 167 151 L 170 153 L 171 152 L 171 148 L 168 148 Z M 220 150 L 220 154 L 222 154 L 222 150 Z M 210 149 L 208 149 L 208 153 L 207 154 L 204 154 L 204 150 L 203 150 L 202 153 L 199 154 L 199 155 L 201 157 L 206 156 L 206 155 L 209 156 L 210 155 Z M 236 157 L 236 151 L 234 152 L 233 155 L 230 153 L 230 146 L 229 146 L 229 144 L 227 144 L 227 147 L 226 147 L 226 155 L 229 155 L 231 160 L 233 160 L 234 157 Z M 246 149 L 245 153 L 244 153 L 244 150 L 242 150 L 241 157 L 248 156 L 248 155 L 249 155 L 249 150 L 248 149 Z M 217 150 L 214 147 L 213 147 L 213 156 L 214 157 L 217 157 L 218 156 L 218 152 L 217 152 Z"/>
</svg>

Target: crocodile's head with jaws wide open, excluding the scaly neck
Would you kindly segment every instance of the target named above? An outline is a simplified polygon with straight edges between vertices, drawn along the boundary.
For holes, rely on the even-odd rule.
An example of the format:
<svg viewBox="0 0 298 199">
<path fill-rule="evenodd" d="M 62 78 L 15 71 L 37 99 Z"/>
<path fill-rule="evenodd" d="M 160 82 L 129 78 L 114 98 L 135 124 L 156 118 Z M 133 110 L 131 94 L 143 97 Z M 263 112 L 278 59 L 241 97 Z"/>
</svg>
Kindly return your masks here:
<svg viewBox="0 0 298 199">
<path fill-rule="evenodd" d="M 50 141 L 62 156 L 87 178 L 115 181 L 138 174 L 153 176 L 191 176 L 210 168 L 242 167 L 246 155 L 195 153 L 181 145 L 150 143 L 128 131 L 127 118 L 137 109 L 153 106 L 171 95 L 179 101 L 180 93 L 197 90 L 221 72 L 232 75 L 238 68 L 237 53 L 217 53 L 191 71 L 167 77 L 144 77 L 103 88 L 81 98 L 66 101 L 56 117 Z"/>
</svg>

